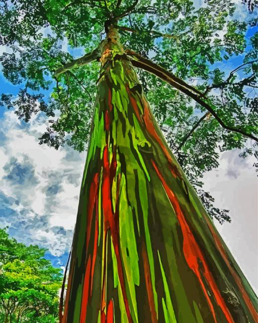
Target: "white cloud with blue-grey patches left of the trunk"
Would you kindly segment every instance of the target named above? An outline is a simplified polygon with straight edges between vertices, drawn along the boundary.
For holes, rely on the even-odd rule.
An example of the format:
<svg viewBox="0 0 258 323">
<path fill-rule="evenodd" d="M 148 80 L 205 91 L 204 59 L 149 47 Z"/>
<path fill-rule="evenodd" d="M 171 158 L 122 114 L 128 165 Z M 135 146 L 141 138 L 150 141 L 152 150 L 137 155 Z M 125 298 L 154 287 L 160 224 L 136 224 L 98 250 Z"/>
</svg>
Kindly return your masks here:
<svg viewBox="0 0 258 323">
<path fill-rule="evenodd" d="M 60 256 L 71 247 L 86 154 L 40 146 L 44 113 L 28 124 L 13 111 L 0 118 L 0 220 L 24 243 Z"/>
</svg>

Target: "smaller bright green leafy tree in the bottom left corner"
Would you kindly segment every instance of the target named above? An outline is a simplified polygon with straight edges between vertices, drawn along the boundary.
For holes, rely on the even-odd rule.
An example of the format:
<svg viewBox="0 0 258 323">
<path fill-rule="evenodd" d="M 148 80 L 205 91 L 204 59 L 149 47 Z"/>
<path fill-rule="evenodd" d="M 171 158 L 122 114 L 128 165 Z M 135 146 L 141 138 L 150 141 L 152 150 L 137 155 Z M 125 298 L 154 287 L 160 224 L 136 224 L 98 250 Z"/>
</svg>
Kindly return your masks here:
<svg viewBox="0 0 258 323">
<path fill-rule="evenodd" d="M 58 322 L 62 274 L 43 258 L 45 252 L 0 229 L 0 322 Z"/>
</svg>

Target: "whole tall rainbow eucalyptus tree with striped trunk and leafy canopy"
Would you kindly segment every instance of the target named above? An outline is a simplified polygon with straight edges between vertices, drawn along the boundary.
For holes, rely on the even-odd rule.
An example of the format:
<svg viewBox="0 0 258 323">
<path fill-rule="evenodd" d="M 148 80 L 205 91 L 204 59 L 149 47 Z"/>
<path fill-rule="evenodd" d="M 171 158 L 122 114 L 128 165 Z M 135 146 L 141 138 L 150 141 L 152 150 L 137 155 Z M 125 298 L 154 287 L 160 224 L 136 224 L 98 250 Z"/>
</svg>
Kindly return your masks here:
<svg viewBox="0 0 258 323">
<path fill-rule="evenodd" d="M 233 2 L 2 2 L 3 75 L 22 85 L 2 104 L 25 121 L 61 111 L 40 144 L 83 151 L 89 138 L 60 322 L 258 322 L 212 222 L 227 210 L 200 180 L 218 149 L 257 145 L 255 20 Z"/>
</svg>

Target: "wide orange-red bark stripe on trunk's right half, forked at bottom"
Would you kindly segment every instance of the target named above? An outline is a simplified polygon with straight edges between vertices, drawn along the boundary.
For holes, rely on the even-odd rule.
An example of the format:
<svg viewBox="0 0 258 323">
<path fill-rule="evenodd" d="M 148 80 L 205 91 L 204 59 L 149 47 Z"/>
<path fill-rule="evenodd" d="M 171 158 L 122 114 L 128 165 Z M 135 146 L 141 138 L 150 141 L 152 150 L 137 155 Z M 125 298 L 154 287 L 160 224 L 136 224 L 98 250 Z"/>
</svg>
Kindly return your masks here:
<svg viewBox="0 0 258 323">
<path fill-rule="evenodd" d="M 180 208 L 180 205 L 179 205 L 179 202 L 177 200 L 177 198 L 175 197 L 175 195 L 173 194 L 172 190 L 170 189 L 170 187 L 168 186 L 168 184 L 166 183 L 164 177 L 162 176 L 160 170 L 158 169 L 156 163 L 152 161 L 152 164 L 153 164 L 153 167 L 155 168 L 160 180 L 162 181 L 162 184 L 163 184 L 163 187 L 171 201 L 171 204 L 174 208 L 174 211 L 175 211 L 175 214 L 177 216 L 177 219 L 178 219 L 178 222 L 179 222 L 179 225 L 180 225 L 180 228 L 182 230 L 182 234 L 183 234 L 183 253 L 184 253 L 184 256 L 185 256 L 185 260 L 189 266 L 189 268 L 191 268 L 193 270 L 193 272 L 195 273 L 196 277 L 198 278 L 199 280 L 199 283 L 202 287 L 202 290 L 204 292 L 204 295 L 207 299 L 207 302 L 209 304 L 209 307 L 211 309 L 211 312 L 212 312 L 212 315 L 213 315 L 213 318 L 214 318 L 214 321 L 217 323 L 217 320 L 216 320 L 216 315 L 215 315 L 215 311 L 214 311 L 214 307 L 212 305 L 212 302 L 209 298 L 209 295 L 205 289 L 205 285 L 201 279 L 201 275 L 200 275 L 200 271 L 199 271 L 199 266 L 198 266 L 198 259 L 200 259 L 200 261 L 202 262 L 203 264 L 203 268 L 204 268 L 204 277 L 206 278 L 211 290 L 212 290 L 212 293 L 214 295 L 214 298 L 218 304 L 218 306 L 222 309 L 222 312 L 224 313 L 225 315 L 225 318 L 227 319 L 227 321 L 229 323 L 234 323 L 233 321 L 233 318 L 225 304 L 225 301 L 224 299 L 222 298 L 219 290 L 218 290 L 218 287 L 215 283 L 215 280 L 211 274 L 211 272 L 209 271 L 209 268 L 208 268 L 208 265 L 204 259 L 204 256 L 201 252 L 201 249 L 199 248 L 197 242 L 195 241 L 194 237 L 193 237 L 193 234 L 192 232 L 190 231 L 190 228 L 187 224 L 187 222 L 185 221 L 185 218 L 183 216 L 183 213 L 181 211 L 181 208 Z"/>
</svg>

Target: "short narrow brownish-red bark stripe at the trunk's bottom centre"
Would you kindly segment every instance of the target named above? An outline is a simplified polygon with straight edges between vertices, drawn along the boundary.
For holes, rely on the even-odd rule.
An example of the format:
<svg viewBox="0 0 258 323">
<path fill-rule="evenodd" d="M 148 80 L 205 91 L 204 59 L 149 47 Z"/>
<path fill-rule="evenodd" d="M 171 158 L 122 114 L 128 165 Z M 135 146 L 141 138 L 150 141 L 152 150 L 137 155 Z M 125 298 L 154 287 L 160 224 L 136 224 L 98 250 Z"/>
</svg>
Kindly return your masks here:
<svg viewBox="0 0 258 323">
<path fill-rule="evenodd" d="M 146 284 L 148 300 L 149 300 L 150 310 L 151 310 L 151 315 L 152 315 L 152 323 L 156 323 L 156 322 L 158 322 L 158 319 L 157 319 L 157 313 L 156 313 L 155 304 L 154 304 L 154 295 L 153 295 L 153 288 L 152 288 L 152 283 L 151 283 L 150 264 L 149 264 L 146 246 L 145 246 L 144 242 L 142 244 L 142 256 L 143 256 L 145 284 Z"/>
</svg>

